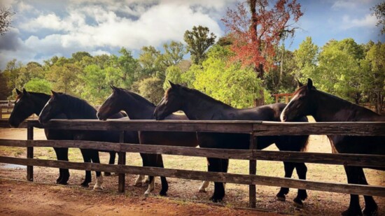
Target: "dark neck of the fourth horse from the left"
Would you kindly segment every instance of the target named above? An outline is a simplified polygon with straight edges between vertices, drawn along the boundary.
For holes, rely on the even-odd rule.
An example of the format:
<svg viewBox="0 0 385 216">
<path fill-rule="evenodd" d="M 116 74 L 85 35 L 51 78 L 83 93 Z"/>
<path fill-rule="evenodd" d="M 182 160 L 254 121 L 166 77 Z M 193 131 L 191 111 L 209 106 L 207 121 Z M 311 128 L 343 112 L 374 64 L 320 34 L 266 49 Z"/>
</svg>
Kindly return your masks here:
<svg viewBox="0 0 385 216">
<path fill-rule="evenodd" d="M 203 95 L 201 92 L 188 92 L 183 97 L 186 104 L 182 110 L 189 120 L 214 120 L 215 116 L 221 115 L 226 110 L 234 109 L 221 101 Z"/>
</svg>

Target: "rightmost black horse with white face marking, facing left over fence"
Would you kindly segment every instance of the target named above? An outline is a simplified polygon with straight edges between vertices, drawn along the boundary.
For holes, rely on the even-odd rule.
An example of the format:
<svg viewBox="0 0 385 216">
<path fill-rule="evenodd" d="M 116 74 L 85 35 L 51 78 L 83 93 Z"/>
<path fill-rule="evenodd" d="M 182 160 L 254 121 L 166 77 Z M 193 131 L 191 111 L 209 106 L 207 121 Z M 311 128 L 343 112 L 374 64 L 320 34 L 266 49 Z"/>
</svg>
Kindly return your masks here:
<svg viewBox="0 0 385 216">
<path fill-rule="evenodd" d="M 318 91 L 311 79 L 293 94 L 281 113 L 283 122 L 312 115 L 316 122 L 385 122 L 385 117 L 372 110 Z M 328 136 L 333 152 L 351 154 L 385 154 L 384 136 Z M 344 166 L 350 184 L 367 185 L 363 168 Z M 377 204 L 372 196 L 364 196 L 365 209 L 361 212 L 359 197 L 350 195 L 349 208 L 342 215 L 375 215 Z"/>
</svg>

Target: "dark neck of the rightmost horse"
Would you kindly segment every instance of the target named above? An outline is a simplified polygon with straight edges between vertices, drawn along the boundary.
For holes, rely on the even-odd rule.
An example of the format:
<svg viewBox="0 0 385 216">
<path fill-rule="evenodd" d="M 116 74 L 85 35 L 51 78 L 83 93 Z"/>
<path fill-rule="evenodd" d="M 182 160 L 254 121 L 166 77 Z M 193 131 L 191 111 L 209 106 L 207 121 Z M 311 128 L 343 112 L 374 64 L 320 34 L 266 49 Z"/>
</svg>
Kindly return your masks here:
<svg viewBox="0 0 385 216">
<path fill-rule="evenodd" d="M 316 122 L 356 122 L 379 116 L 372 110 L 367 110 L 337 96 L 319 91 L 316 94 L 318 94 L 315 97 L 316 100 L 312 101 L 316 104 L 315 113 L 313 113 Z"/>
</svg>

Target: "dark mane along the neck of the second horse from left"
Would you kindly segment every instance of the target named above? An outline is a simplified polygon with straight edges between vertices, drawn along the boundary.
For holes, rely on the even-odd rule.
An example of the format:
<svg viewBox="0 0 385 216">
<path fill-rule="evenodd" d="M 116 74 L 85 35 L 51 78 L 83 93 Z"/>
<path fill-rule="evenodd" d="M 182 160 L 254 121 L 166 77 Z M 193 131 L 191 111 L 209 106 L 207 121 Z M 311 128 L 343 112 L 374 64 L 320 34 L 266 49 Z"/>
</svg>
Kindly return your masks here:
<svg viewBox="0 0 385 216">
<path fill-rule="evenodd" d="M 66 101 L 66 108 L 70 108 L 71 112 L 77 112 L 80 115 L 96 118 L 97 110 L 91 106 L 90 103 L 87 103 L 87 101 L 69 94 L 58 94 L 61 94 L 62 98 Z"/>
</svg>

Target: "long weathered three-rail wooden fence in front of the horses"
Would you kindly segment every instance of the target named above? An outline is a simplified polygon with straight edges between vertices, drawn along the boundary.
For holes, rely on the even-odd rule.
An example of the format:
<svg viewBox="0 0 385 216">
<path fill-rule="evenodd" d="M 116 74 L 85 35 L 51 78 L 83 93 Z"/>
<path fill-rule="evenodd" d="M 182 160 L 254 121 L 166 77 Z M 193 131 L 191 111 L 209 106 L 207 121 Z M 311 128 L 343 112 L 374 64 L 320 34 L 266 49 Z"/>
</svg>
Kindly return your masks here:
<svg viewBox="0 0 385 216">
<path fill-rule="evenodd" d="M 6 126 L 0 122 L 0 127 Z M 256 161 L 292 161 L 316 164 L 340 164 L 385 168 L 384 155 L 367 154 L 326 154 L 311 152 L 275 152 L 255 150 L 255 136 L 269 135 L 349 135 L 349 136 L 385 136 L 385 122 L 327 122 L 327 123 L 281 123 L 254 121 L 154 121 L 154 120 L 53 120 L 45 125 L 50 129 L 113 130 L 120 133 L 120 143 L 102 143 L 91 141 L 34 141 L 34 127 L 41 128 L 37 121 L 29 120 L 22 126 L 27 127 L 27 141 L 0 140 L 0 145 L 27 147 L 27 159 L 0 157 L 1 163 L 27 166 L 27 179 L 33 180 L 33 166 L 72 168 L 89 171 L 107 171 L 119 174 L 118 191 L 124 192 L 125 173 L 157 175 L 191 180 L 209 180 L 249 185 L 249 205 L 255 207 L 255 185 L 312 189 L 344 194 L 363 194 L 385 196 L 385 187 L 369 185 L 341 184 L 334 182 L 315 182 L 291 178 L 276 178 L 256 174 Z M 160 145 L 137 145 L 124 143 L 124 131 L 200 131 L 250 134 L 250 150 L 218 150 L 195 147 L 175 147 Z M 385 144 L 385 143 L 384 143 Z M 118 152 L 118 165 L 75 163 L 33 159 L 34 147 L 80 147 Z M 176 154 L 194 157 L 215 157 L 222 159 L 244 159 L 249 161 L 249 175 L 233 173 L 214 173 L 187 171 L 170 168 L 140 167 L 125 165 L 126 152 L 151 154 Z"/>
</svg>

